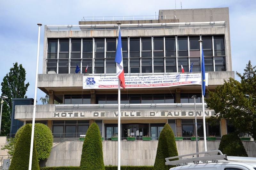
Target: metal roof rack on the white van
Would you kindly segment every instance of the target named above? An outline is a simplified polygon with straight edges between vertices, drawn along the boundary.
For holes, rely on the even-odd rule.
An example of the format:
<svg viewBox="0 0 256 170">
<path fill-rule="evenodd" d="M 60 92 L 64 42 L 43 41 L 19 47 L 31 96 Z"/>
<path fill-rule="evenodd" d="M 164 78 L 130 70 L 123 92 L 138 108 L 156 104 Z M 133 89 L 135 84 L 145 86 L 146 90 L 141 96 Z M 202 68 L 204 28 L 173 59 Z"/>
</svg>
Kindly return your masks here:
<svg viewBox="0 0 256 170">
<path fill-rule="evenodd" d="M 210 153 L 214 153 L 212 156 Z M 217 155 L 217 154 L 220 155 Z M 199 155 L 204 154 L 204 156 L 199 157 Z M 192 158 L 191 158 L 192 156 Z M 190 157 L 190 158 L 185 158 L 185 157 Z M 173 160 L 170 161 L 170 159 L 176 159 L 179 158 L 179 160 Z M 180 156 L 174 156 L 170 158 L 165 158 L 165 165 L 188 165 L 188 163 L 194 163 L 194 164 L 199 164 L 199 161 L 203 163 L 208 163 L 208 161 L 212 161 L 212 163 L 218 162 L 218 160 L 228 160 L 226 154 L 222 154 L 220 150 L 214 150 L 214 151 L 207 151 L 207 152 L 197 152 L 197 153 L 191 153 L 187 155 L 180 155 Z"/>
</svg>

